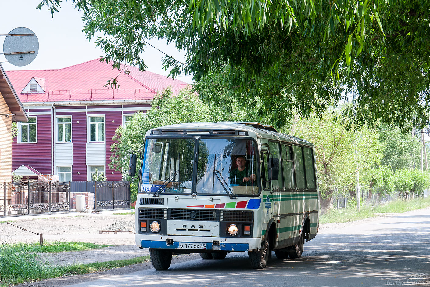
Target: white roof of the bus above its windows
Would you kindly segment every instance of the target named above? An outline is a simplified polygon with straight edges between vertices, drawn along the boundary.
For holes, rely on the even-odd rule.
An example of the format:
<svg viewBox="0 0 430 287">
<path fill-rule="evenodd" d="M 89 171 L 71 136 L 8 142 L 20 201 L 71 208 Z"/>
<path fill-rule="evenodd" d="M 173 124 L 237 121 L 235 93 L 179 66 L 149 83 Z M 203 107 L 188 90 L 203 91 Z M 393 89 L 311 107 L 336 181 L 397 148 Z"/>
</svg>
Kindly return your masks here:
<svg viewBox="0 0 430 287">
<path fill-rule="evenodd" d="M 159 132 L 156 135 L 154 131 Z M 178 123 L 148 130 L 146 136 L 240 136 L 239 131 L 248 132 L 250 137 L 312 145 L 307 140 L 278 133 L 271 126 L 255 122 Z"/>
</svg>

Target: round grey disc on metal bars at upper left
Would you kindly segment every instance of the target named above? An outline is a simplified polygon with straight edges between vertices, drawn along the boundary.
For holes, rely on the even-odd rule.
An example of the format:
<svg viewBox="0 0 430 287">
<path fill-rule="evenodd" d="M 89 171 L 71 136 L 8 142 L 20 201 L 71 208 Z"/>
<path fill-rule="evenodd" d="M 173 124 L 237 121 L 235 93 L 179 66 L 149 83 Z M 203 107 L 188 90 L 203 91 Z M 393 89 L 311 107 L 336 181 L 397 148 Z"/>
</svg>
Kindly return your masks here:
<svg viewBox="0 0 430 287">
<path fill-rule="evenodd" d="M 34 34 L 28 28 L 15 28 L 9 34 Z M 33 52 L 23 54 L 7 54 L 15 52 Z M 39 51 L 39 40 L 34 36 L 7 36 L 3 42 L 3 52 L 6 60 L 15 66 L 25 66 L 33 62 Z"/>
</svg>

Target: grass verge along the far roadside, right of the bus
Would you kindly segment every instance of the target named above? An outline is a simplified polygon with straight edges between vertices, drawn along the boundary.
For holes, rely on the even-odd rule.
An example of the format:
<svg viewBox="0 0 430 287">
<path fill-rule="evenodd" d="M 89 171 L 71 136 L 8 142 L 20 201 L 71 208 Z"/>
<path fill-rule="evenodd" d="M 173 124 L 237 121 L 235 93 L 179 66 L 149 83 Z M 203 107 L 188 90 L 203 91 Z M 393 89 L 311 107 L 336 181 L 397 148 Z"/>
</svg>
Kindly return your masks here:
<svg viewBox="0 0 430 287">
<path fill-rule="evenodd" d="M 360 213 L 357 213 L 356 207 L 344 208 L 344 209 L 330 209 L 327 213 L 323 214 L 319 218 L 319 223 L 335 223 L 335 222 L 350 222 L 359 219 L 365 219 L 369 217 L 379 216 L 380 213 L 389 212 L 405 212 L 410 210 L 417 210 L 430 207 L 430 197 L 418 198 L 408 201 L 390 201 L 384 205 L 378 207 L 361 207 Z"/>
</svg>

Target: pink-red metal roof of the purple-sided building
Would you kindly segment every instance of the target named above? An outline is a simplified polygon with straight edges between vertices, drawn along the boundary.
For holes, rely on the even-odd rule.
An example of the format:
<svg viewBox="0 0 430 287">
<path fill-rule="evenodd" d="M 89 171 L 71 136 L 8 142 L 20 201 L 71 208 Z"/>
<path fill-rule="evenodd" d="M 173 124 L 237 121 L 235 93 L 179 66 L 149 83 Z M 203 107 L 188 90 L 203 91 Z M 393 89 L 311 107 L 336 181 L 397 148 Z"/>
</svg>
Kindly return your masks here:
<svg viewBox="0 0 430 287">
<path fill-rule="evenodd" d="M 59 70 L 6 71 L 22 102 L 62 102 L 134 100 L 154 98 L 168 86 L 173 93 L 187 86 L 181 80 L 172 80 L 149 71 L 141 72 L 128 66 L 130 73 L 112 69 L 112 65 L 94 59 Z M 31 78 L 35 78 L 46 93 L 21 93 Z M 107 80 L 117 77 L 117 89 L 104 87 Z"/>
</svg>

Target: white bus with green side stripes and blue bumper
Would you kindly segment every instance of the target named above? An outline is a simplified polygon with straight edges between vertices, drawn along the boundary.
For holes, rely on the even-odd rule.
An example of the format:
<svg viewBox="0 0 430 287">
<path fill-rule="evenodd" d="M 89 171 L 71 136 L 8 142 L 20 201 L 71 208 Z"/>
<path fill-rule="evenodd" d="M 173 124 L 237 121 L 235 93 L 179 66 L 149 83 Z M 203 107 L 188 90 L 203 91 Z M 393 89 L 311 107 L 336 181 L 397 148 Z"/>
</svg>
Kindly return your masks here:
<svg viewBox="0 0 430 287">
<path fill-rule="evenodd" d="M 318 233 L 315 155 L 303 139 L 253 122 L 175 124 L 146 133 L 141 162 L 136 245 L 157 270 L 172 254 L 243 251 L 264 268 L 272 251 L 301 257 Z"/>
</svg>

